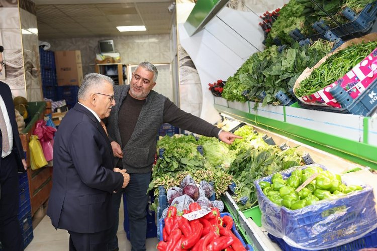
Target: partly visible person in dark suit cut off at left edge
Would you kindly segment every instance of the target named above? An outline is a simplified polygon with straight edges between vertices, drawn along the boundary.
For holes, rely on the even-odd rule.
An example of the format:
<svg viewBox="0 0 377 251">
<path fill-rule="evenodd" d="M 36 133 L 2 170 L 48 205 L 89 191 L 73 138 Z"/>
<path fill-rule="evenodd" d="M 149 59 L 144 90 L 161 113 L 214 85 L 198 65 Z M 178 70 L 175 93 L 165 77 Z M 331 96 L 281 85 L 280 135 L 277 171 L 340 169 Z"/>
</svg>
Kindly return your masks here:
<svg viewBox="0 0 377 251">
<path fill-rule="evenodd" d="M 0 46 L 0 72 L 5 66 Z M 24 250 L 20 223 L 18 170 L 26 170 L 24 150 L 17 129 L 15 106 L 9 85 L 0 81 L 0 242 L 4 251 Z"/>
</svg>

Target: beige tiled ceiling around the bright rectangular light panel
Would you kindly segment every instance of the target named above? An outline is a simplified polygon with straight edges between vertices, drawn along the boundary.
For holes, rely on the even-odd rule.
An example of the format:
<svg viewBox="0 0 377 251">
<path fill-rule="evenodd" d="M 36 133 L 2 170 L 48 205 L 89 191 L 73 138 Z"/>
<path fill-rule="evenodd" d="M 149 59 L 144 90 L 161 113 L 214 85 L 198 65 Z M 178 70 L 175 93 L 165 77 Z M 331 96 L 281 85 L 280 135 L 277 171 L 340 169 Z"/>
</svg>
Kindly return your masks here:
<svg viewBox="0 0 377 251">
<path fill-rule="evenodd" d="M 169 34 L 174 0 L 34 0 L 39 39 Z M 119 32 L 117 26 L 145 25 L 146 31 Z"/>
</svg>

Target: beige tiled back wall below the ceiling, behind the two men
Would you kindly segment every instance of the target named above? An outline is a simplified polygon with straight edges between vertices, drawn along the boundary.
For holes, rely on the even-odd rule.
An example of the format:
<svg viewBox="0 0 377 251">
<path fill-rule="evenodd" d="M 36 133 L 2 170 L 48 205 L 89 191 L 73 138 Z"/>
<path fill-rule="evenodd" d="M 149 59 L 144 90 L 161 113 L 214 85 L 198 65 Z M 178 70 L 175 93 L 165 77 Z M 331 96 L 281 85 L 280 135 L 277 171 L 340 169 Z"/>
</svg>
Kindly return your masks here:
<svg viewBox="0 0 377 251">
<path fill-rule="evenodd" d="M 142 61 L 151 63 L 170 63 L 169 35 L 119 36 L 113 38 L 73 38 L 46 40 L 51 44 L 50 50 L 80 50 L 83 74 L 95 71 L 98 41 L 113 39 L 115 49 L 121 54 L 122 63 L 139 64 Z"/>
</svg>

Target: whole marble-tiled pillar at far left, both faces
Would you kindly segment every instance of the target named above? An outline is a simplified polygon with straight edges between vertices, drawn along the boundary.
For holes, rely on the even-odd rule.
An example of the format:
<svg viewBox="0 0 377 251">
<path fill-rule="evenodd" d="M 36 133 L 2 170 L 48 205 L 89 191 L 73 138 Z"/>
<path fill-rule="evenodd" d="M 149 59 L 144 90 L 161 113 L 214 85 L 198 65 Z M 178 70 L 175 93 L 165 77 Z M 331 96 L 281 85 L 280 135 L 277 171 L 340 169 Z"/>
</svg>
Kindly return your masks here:
<svg viewBox="0 0 377 251">
<path fill-rule="evenodd" d="M 14 97 L 40 101 L 38 35 L 21 34 L 20 29 L 20 26 L 25 30 L 37 28 L 35 5 L 30 0 L 20 0 L 19 3 L 21 8 L 17 0 L 0 0 L 0 42 L 4 46 L 6 61 L 6 79 L 3 82 L 11 87 Z"/>
</svg>

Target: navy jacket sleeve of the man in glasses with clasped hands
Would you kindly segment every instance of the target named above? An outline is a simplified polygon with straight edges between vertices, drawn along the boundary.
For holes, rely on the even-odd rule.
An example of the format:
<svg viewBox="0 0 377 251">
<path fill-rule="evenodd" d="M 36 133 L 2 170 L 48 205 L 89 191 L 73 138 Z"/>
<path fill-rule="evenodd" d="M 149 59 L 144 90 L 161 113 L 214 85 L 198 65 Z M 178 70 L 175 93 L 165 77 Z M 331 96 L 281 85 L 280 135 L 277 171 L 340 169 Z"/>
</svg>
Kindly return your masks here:
<svg viewBox="0 0 377 251">
<path fill-rule="evenodd" d="M 110 155 L 110 151 L 108 145 L 100 142 L 99 137 L 102 135 L 97 128 L 90 122 L 81 122 L 75 127 L 71 137 L 69 151 L 82 182 L 88 187 L 110 193 L 118 191 L 123 185 L 123 175 L 103 165 L 102 154 Z M 100 151 L 100 148 L 105 149 Z M 109 161 L 111 158 L 112 156 L 109 156 Z"/>
</svg>

